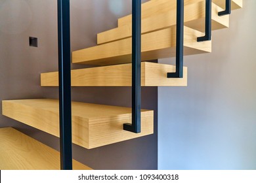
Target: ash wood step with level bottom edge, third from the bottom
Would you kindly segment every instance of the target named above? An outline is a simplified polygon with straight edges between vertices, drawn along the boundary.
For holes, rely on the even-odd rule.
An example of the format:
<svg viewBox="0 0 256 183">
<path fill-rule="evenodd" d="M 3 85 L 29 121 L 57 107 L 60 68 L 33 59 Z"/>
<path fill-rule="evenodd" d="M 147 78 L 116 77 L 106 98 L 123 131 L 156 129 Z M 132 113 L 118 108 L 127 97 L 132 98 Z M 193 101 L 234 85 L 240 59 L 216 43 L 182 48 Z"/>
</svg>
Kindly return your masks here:
<svg viewBox="0 0 256 183">
<path fill-rule="evenodd" d="M 141 63 L 142 86 L 187 86 L 187 68 L 183 78 L 167 78 L 175 66 L 161 63 Z M 75 69 L 71 71 L 72 86 L 131 86 L 131 63 Z M 41 86 L 58 86 L 58 72 L 42 73 Z"/>
</svg>

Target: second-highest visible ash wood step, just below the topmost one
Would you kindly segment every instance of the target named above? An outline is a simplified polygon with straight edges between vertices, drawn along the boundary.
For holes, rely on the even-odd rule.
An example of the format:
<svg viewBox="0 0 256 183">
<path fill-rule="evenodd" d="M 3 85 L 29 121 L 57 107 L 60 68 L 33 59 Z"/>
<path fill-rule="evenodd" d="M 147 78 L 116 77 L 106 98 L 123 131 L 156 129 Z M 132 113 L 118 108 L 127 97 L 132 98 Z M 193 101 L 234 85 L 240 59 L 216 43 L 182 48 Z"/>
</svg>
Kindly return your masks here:
<svg viewBox="0 0 256 183">
<path fill-rule="evenodd" d="M 214 3 L 212 3 L 211 8 L 212 30 L 228 27 L 229 16 L 218 16 L 218 12 L 223 11 L 223 8 L 218 7 Z M 152 15 L 142 20 L 141 33 L 144 34 L 158 31 L 176 25 L 175 17 L 176 10 L 154 13 L 154 16 Z M 193 3 L 184 7 L 184 25 L 198 31 L 205 31 L 205 1 Z M 97 43 L 104 44 L 106 42 L 117 41 L 128 37 L 131 37 L 131 22 L 115 29 L 98 33 Z"/>
</svg>

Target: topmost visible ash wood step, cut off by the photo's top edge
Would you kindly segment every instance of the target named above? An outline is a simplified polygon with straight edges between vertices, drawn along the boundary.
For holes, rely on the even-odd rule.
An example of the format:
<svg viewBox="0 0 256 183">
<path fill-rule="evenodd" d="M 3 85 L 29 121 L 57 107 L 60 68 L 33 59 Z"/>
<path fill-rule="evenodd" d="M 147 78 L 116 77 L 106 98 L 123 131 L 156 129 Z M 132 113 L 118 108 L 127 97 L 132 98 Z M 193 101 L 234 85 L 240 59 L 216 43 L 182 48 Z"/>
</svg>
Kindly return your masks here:
<svg viewBox="0 0 256 183">
<path fill-rule="evenodd" d="M 184 0 L 184 6 L 191 5 L 193 3 L 199 3 L 205 0 Z M 225 8 L 225 0 L 213 0 L 215 5 Z M 232 0 L 231 8 L 232 10 L 236 10 L 238 8 L 242 8 L 243 1 L 242 0 Z M 167 12 L 169 10 L 176 9 L 176 1 L 169 0 L 152 0 L 142 4 L 142 19 L 148 18 L 150 16 L 154 16 L 156 14 L 160 14 L 163 12 Z M 131 14 L 127 16 L 123 16 L 117 20 L 118 27 L 121 27 L 125 24 L 131 24 Z"/>
</svg>

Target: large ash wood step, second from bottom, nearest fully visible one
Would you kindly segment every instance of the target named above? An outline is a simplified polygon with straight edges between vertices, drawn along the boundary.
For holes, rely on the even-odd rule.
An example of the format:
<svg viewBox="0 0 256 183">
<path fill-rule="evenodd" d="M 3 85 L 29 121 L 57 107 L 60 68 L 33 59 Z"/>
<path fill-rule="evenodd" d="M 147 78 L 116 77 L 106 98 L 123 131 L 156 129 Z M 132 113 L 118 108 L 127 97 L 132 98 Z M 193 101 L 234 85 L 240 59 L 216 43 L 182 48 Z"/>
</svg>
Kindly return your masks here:
<svg viewBox="0 0 256 183">
<path fill-rule="evenodd" d="M 58 100 L 26 99 L 2 102 L 3 115 L 59 137 Z M 72 102 L 72 141 L 96 148 L 153 133 L 153 110 L 142 110 L 141 133 L 123 130 L 131 123 L 131 108 Z"/>
</svg>

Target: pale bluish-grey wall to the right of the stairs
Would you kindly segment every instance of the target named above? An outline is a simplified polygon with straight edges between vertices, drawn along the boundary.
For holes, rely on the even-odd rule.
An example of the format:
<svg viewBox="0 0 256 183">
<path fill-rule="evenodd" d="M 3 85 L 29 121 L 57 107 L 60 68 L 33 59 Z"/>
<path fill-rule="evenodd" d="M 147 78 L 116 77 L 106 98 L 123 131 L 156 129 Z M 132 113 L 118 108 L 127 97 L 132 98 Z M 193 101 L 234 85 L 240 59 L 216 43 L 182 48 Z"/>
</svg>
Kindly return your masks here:
<svg viewBox="0 0 256 183">
<path fill-rule="evenodd" d="M 256 169 L 255 8 L 232 12 L 211 54 L 184 58 L 188 87 L 159 88 L 159 169 Z"/>
</svg>

